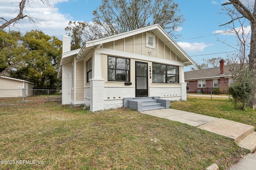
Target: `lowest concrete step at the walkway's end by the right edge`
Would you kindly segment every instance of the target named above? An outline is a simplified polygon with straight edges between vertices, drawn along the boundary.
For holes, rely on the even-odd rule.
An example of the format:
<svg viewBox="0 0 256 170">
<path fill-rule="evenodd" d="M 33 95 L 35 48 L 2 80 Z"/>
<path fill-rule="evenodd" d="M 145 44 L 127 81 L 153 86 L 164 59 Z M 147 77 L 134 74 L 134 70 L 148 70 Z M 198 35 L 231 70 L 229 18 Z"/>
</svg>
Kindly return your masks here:
<svg viewBox="0 0 256 170">
<path fill-rule="evenodd" d="M 256 149 L 256 131 L 239 141 L 237 145 L 253 152 Z"/>
</svg>

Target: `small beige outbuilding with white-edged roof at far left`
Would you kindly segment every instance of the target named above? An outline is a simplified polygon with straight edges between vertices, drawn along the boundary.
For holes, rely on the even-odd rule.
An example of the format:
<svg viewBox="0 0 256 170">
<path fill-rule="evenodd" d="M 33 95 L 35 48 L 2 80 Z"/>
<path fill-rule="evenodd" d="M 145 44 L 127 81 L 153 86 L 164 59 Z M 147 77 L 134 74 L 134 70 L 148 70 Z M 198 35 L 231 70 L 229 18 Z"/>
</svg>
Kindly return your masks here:
<svg viewBox="0 0 256 170">
<path fill-rule="evenodd" d="M 11 78 L 7 76 L 0 77 L 0 98 L 10 98 L 10 97 L 22 97 L 24 92 L 24 97 L 33 95 L 33 84 L 26 80 L 20 80 L 17 78 Z M 24 89 L 24 90 L 22 90 Z"/>
</svg>

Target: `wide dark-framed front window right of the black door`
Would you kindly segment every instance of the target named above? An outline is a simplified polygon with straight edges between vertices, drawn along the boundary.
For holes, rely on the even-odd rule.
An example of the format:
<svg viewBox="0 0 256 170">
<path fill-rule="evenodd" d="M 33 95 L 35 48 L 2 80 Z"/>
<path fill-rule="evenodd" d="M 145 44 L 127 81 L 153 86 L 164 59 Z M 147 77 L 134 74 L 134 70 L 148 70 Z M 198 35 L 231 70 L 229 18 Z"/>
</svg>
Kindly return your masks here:
<svg viewBox="0 0 256 170">
<path fill-rule="evenodd" d="M 179 83 L 179 67 L 152 63 L 153 83 Z"/>
</svg>

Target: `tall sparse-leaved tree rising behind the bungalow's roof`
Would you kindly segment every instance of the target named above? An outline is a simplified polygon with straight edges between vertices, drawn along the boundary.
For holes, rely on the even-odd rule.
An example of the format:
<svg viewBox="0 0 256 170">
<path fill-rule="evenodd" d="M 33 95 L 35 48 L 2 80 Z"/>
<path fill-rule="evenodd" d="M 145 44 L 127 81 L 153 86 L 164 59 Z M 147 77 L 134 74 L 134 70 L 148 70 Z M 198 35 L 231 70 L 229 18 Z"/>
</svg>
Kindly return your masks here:
<svg viewBox="0 0 256 170">
<path fill-rule="evenodd" d="M 184 21 L 179 12 L 172 0 L 102 0 L 93 11 L 92 22 L 70 22 L 66 31 L 88 41 L 158 23 L 168 34 L 177 36 L 175 30 Z"/>
</svg>

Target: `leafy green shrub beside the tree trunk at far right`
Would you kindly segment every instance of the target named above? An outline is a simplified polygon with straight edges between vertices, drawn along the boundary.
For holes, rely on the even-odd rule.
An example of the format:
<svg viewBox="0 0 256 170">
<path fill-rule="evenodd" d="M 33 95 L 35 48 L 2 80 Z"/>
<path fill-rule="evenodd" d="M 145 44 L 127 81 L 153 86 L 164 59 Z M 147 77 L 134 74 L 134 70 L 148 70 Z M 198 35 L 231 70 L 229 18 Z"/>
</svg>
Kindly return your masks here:
<svg viewBox="0 0 256 170">
<path fill-rule="evenodd" d="M 238 108 L 238 103 L 242 104 L 242 109 L 246 109 L 246 103 L 253 99 L 253 93 L 255 90 L 254 80 L 251 79 L 252 72 L 245 69 L 240 72 L 239 77 L 234 81 L 232 85 L 228 87 L 228 92 L 232 96 L 235 109 Z"/>
</svg>

